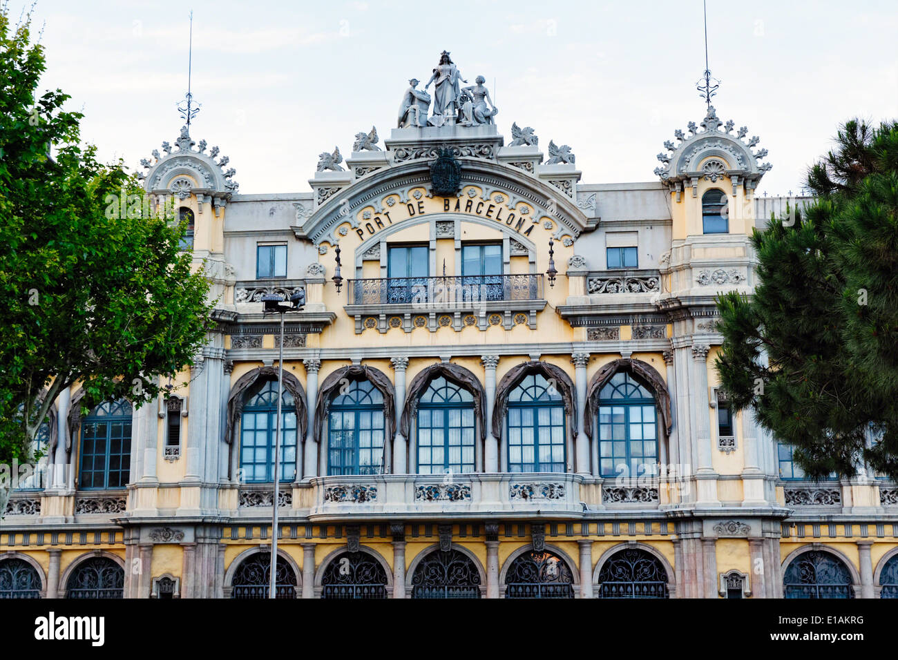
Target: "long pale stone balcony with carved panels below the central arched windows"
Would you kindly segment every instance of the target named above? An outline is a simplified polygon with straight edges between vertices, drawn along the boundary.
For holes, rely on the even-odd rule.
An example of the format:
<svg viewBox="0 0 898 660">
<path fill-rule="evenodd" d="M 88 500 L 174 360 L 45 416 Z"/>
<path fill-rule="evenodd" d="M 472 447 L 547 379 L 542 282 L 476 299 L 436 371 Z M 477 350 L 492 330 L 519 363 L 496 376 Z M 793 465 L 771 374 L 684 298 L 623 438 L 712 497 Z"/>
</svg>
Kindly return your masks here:
<svg viewBox="0 0 898 660">
<path fill-rule="evenodd" d="M 508 512 L 564 517 L 583 513 L 582 481 L 580 475 L 555 472 L 319 477 L 312 480 L 309 518 L 446 518 Z"/>
</svg>

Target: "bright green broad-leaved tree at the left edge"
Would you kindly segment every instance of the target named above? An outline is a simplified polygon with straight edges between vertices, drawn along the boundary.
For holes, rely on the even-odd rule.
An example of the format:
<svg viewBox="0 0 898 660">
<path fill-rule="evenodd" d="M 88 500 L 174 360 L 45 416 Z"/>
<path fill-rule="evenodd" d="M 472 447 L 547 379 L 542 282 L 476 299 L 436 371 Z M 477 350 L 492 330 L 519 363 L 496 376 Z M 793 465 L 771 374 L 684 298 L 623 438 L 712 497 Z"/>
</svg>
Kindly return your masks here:
<svg viewBox="0 0 898 660">
<path fill-rule="evenodd" d="M 31 440 L 74 383 L 88 405 L 152 399 L 211 322 L 183 228 L 123 163 L 80 144 L 65 93 L 34 100 L 45 58 L 29 28 L 0 7 L 0 464 L 34 459 Z"/>
</svg>

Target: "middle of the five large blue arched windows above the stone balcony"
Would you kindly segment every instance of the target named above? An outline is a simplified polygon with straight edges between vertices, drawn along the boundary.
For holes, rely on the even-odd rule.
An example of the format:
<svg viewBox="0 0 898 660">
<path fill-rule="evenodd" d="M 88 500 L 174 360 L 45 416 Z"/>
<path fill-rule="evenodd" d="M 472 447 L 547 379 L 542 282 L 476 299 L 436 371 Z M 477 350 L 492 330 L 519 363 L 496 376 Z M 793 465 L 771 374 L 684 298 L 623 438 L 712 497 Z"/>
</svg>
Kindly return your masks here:
<svg viewBox="0 0 898 660">
<path fill-rule="evenodd" d="M 418 400 L 418 472 L 474 471 L 474 396 L 443 376 Z"/>
</svg>

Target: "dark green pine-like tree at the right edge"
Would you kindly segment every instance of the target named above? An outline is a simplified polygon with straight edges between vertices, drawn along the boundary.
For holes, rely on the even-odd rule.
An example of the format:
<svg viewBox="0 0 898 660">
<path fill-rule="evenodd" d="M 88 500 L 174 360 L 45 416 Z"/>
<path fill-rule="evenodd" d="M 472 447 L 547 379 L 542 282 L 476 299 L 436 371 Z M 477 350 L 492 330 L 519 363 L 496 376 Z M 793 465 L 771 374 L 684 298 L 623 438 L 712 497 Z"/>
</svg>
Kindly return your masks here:
<svg viewBox="0 0 898 660">
<path fill-rule="evenodd" d="M 896 479 L 898 124 L 846 123 L 808 184 L 814 203 L 753 232 L 751 298 L 718 297 L 718 374 L 808 477 L 863 460 Z"/>
</svg>

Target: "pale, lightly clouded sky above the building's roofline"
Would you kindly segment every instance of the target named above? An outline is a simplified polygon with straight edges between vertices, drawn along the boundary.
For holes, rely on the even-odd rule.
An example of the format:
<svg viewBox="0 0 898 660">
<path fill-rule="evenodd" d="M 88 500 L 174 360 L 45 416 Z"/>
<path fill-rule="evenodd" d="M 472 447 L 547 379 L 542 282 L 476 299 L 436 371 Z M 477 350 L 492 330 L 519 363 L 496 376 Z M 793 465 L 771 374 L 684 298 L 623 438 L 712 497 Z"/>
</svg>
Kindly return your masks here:
<svg viewBox="0 0 898 660">
<path fill-rule="evenodd" d="M 11 0 L 14 19 L 31 0 Z M 656 180 L 674 130 L 700 123 L 701 0 L 273 2 L 38 0 L 48 68 L 82 137 L 136 168 L 183 120 L 193 10 L 191 123 L 230 156 L 240 192 L 309 191 L 318 154 L 395 127 L 410 77 L 451 51 L 483 75 L 499 131 L 530 126 L 577 157 L 583 183 Z M 895 0 L 708 0 L 720 119 L 760 136 L 773 165 L 759 193 L 788 194 L 852 117 L 898 119 Z M 431 88 L 431 92 L 433 89 Z"/>
</svg>

